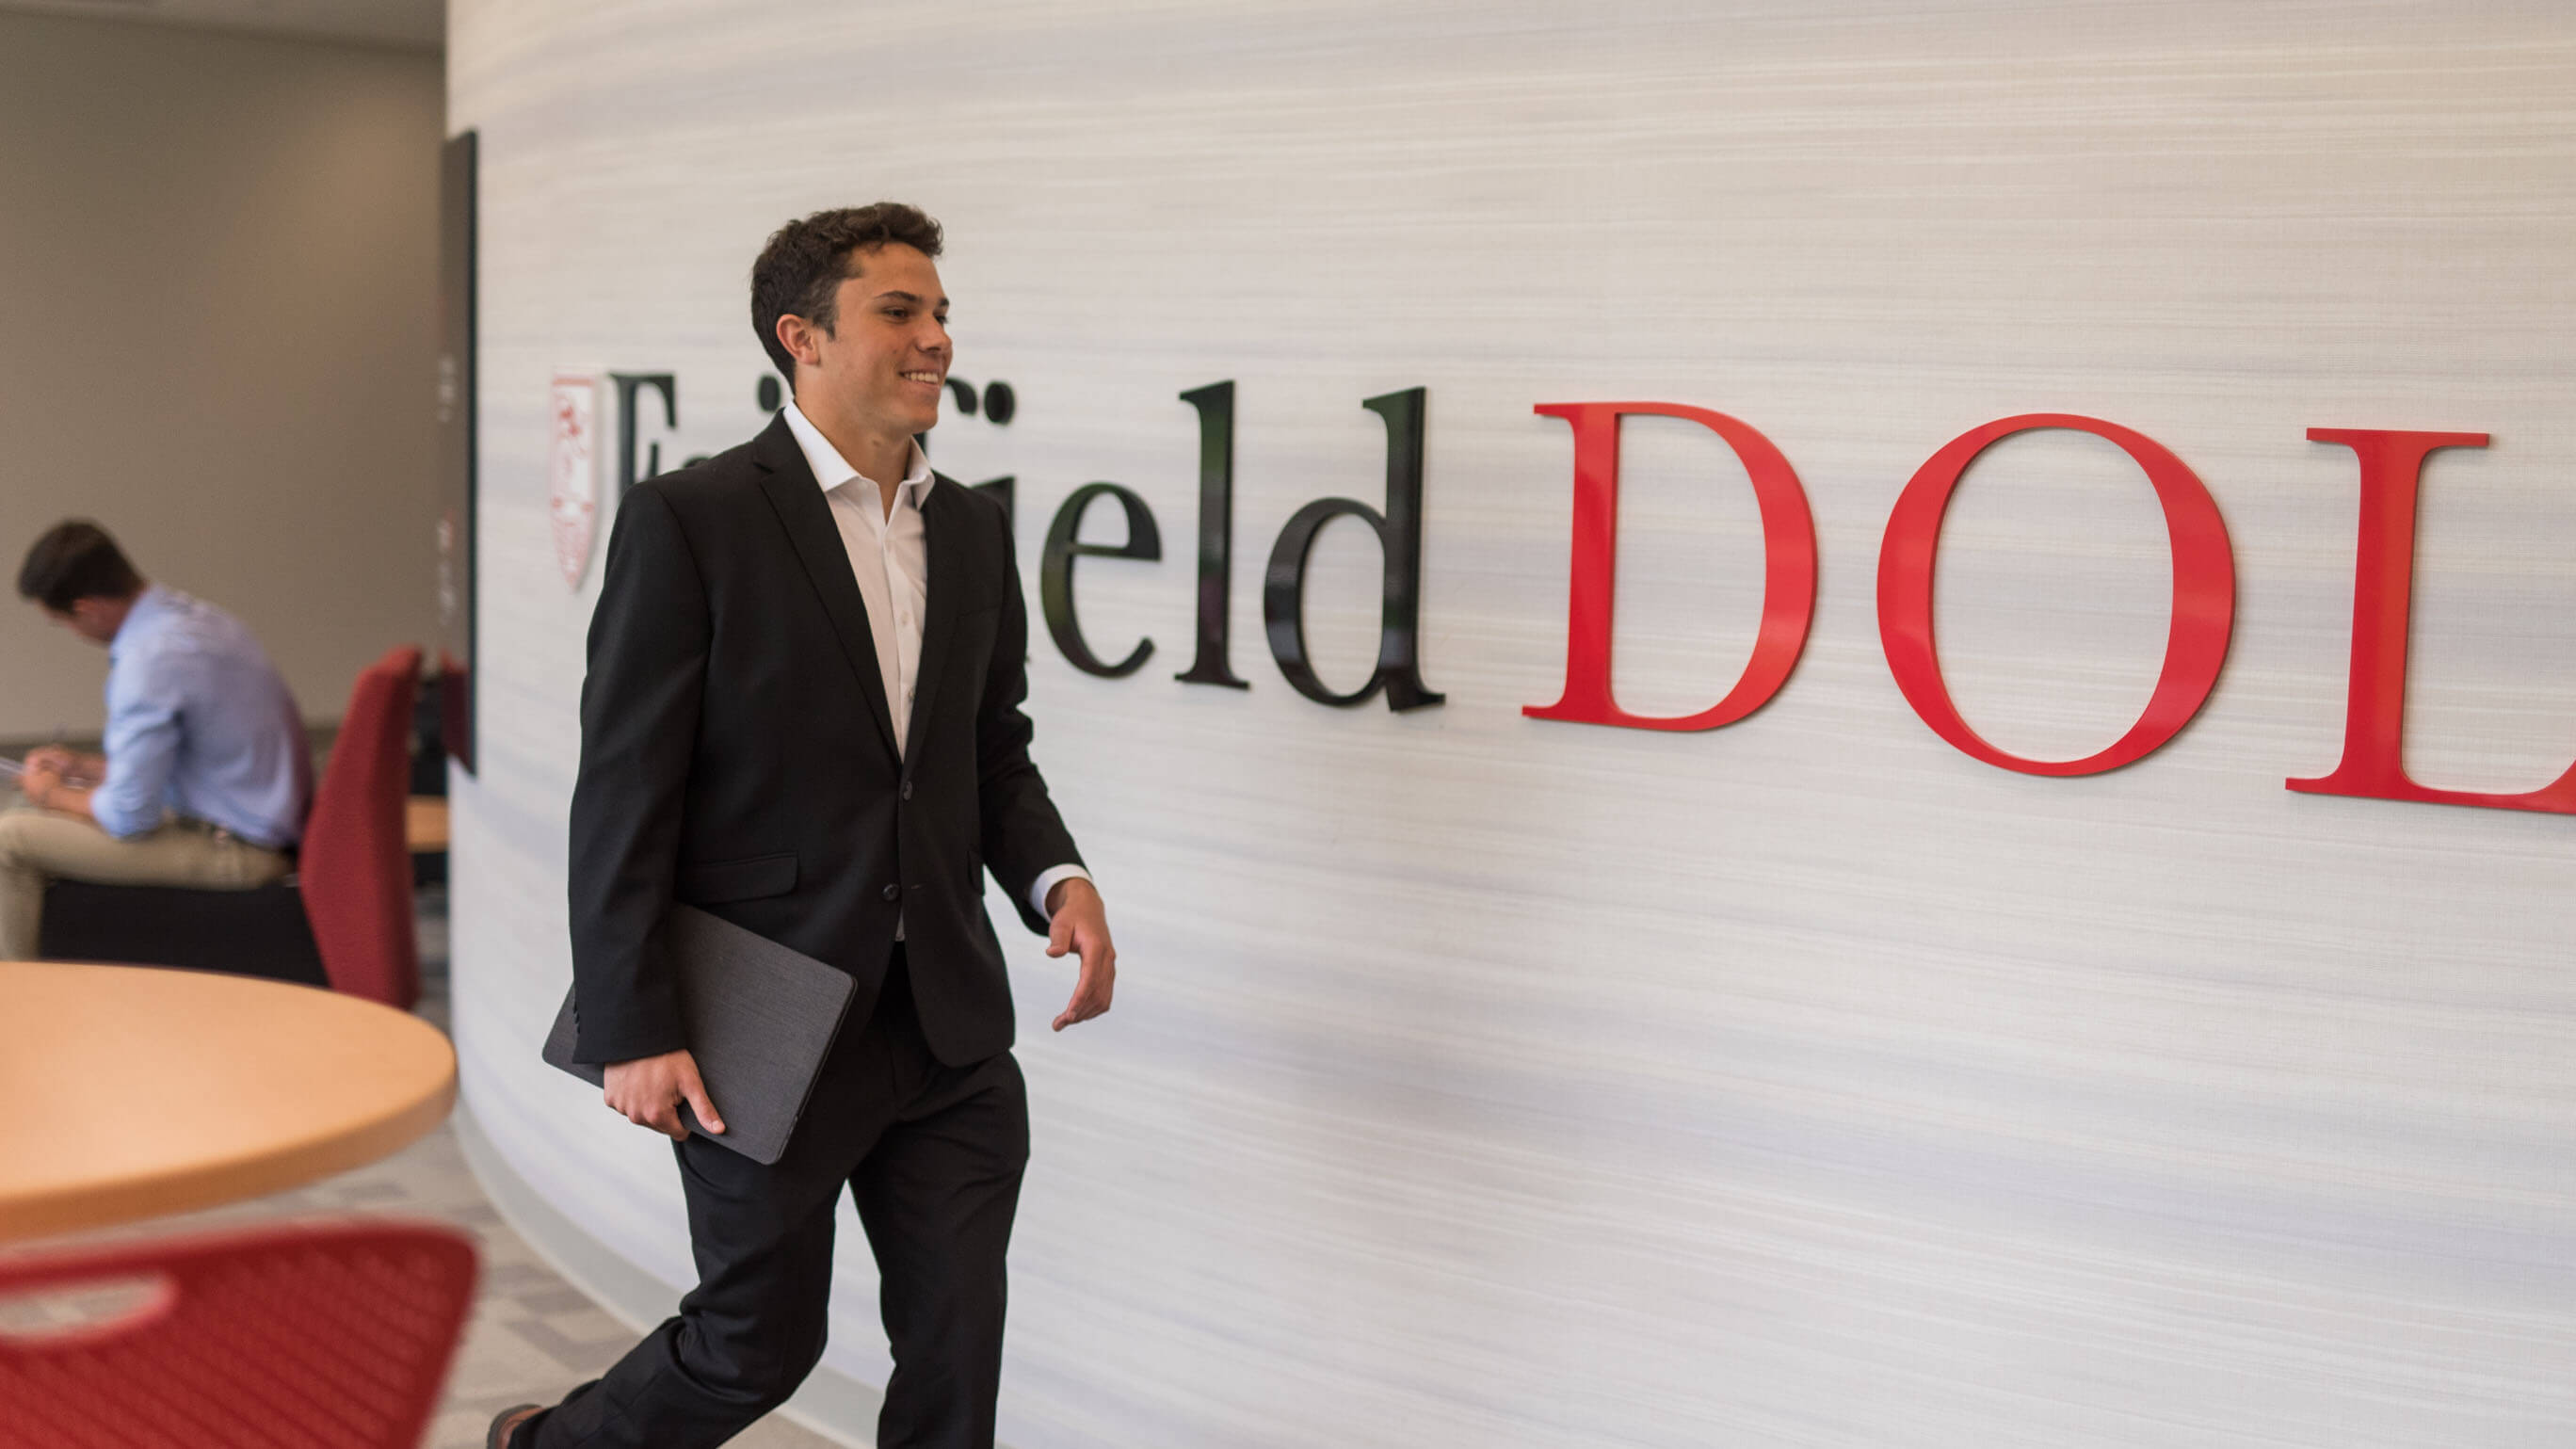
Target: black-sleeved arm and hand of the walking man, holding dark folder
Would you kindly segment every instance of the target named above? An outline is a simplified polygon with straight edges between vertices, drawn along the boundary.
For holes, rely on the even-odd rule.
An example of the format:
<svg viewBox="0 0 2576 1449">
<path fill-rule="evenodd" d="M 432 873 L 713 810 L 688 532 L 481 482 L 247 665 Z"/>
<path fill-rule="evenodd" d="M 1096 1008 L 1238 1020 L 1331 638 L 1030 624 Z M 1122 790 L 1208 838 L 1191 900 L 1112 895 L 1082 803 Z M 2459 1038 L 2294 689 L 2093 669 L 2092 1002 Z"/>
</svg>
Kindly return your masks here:
<svg viewBox="0 0 2576 1449">
<path fill-rule="evenodd" d="M 582 678 L 582 763 L 572 784 L 574 1060 L 608 1065 L 605 1098 L 672 1137 L 675 1104 L 721 1132 L 706 1101 L 670 959 L 659 949 L 698 750 L 708 616 L 698 562 L 659 487 L 618 503 Z"/>
</svg>

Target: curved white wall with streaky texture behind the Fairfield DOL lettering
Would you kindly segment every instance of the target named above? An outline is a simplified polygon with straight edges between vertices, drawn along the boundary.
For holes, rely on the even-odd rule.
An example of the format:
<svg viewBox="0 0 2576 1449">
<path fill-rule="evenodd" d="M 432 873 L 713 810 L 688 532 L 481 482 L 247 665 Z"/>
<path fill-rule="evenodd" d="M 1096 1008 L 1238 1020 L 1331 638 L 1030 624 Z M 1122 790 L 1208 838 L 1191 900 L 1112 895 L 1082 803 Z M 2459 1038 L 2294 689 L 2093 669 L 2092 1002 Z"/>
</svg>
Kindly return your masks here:
<svg viewBox="0 0 2576 1449">
<path fill-rule="evenodd" d="M 1731 15 L 1726 10 L 1734 10 Z M 484 155 L 482 776 L 456 797 L 466 1101 L 598 1245 L 685 1281 L 657 1140 L 538 1065 L 569 980 L 595 572 L 546 523 L 556 369 L 675 371 L 665 454 L 762 418 L 744 271 L 817 206 L 951 229 L 938 462 L 1018 474 L 1123 681 L 1043 632 L 1038 758 L 1121 936 L 1118 1011 L 1012 933 L 1036 1163 L 1005 1439 L 1038 1446 L 2192 1446 L 2576 1436 L 2568 820 L 2290 794 L 2342 745 L 2354 464 L 2429 472 L 2409 761 L 2576 758 L 2576 23 L 2553 5 L 453 8 Z M 1198 446 L 1239 387 L 1234 668 L 1182 686 Z M 1376 500 L 1363 397 L 1430 389 L 1437 709 L 1296 696 L 1260 565 Z M 1821 596 L 1752 719 L 1525 719 L 1564 660 L 1571 449 L 1538 402 L 1762 428 Z M 2143 763 L 1965 758 L 1896 691 L 1875 559 L 1991 418 L 2087 413 L 2226 513 L 2228 670 Z M 1631 423 L 1618 688 L 1752 647 L 1744 472 Z M 1115 513 L 1090 536 L 1115 539 Z M 1324 676 L 1376 554 L 1327 529 Z M 2164 529 L 2081 436 L 1989 459 L 1940 572 L 1991 740 L 2105 745 L 2164 647 Z M 1033 598 L 1036 606 L 1036 598 Z M 1005 915 L 1007 913 L 997 913 Z M 855 1230 L 853 1230 L 855 1232 Z M 840 1256 L 829 1364 L 881 1372 Z"/>
</svg>

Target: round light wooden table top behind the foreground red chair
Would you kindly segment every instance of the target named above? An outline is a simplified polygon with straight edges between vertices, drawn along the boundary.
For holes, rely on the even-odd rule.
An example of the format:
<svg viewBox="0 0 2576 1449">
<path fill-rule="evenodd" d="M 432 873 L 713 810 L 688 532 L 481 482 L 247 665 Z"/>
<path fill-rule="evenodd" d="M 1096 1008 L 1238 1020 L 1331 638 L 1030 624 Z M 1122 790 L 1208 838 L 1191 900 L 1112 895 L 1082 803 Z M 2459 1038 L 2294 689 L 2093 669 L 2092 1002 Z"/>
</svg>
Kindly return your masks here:
<svg viewBox="0 0 2576 1449">
<path fill-rule="evenodd" d="M 0 962 L 0 1243 L 283 1191 L 446 1119 L 456 1049 L 304 985 Z"/>
</svg>

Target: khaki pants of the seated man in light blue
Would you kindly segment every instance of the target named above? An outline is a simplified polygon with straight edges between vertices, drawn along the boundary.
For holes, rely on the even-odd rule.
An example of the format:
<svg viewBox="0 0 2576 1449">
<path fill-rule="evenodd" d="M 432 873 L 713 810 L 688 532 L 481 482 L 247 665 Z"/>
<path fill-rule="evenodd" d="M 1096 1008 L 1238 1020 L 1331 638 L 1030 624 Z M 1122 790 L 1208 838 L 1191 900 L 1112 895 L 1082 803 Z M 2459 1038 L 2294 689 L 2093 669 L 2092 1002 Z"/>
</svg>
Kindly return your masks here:
<svg viewBox="0 0 2576 1449">
<path fill-rule="evenodd" d="M 286 856 L 198 820 L 118 841 L 80 815 L 18 804 L 0 812 L 0 962 L 36 959 L 44 882 L 252 890 L 286 874 Z"/>
</svg>

